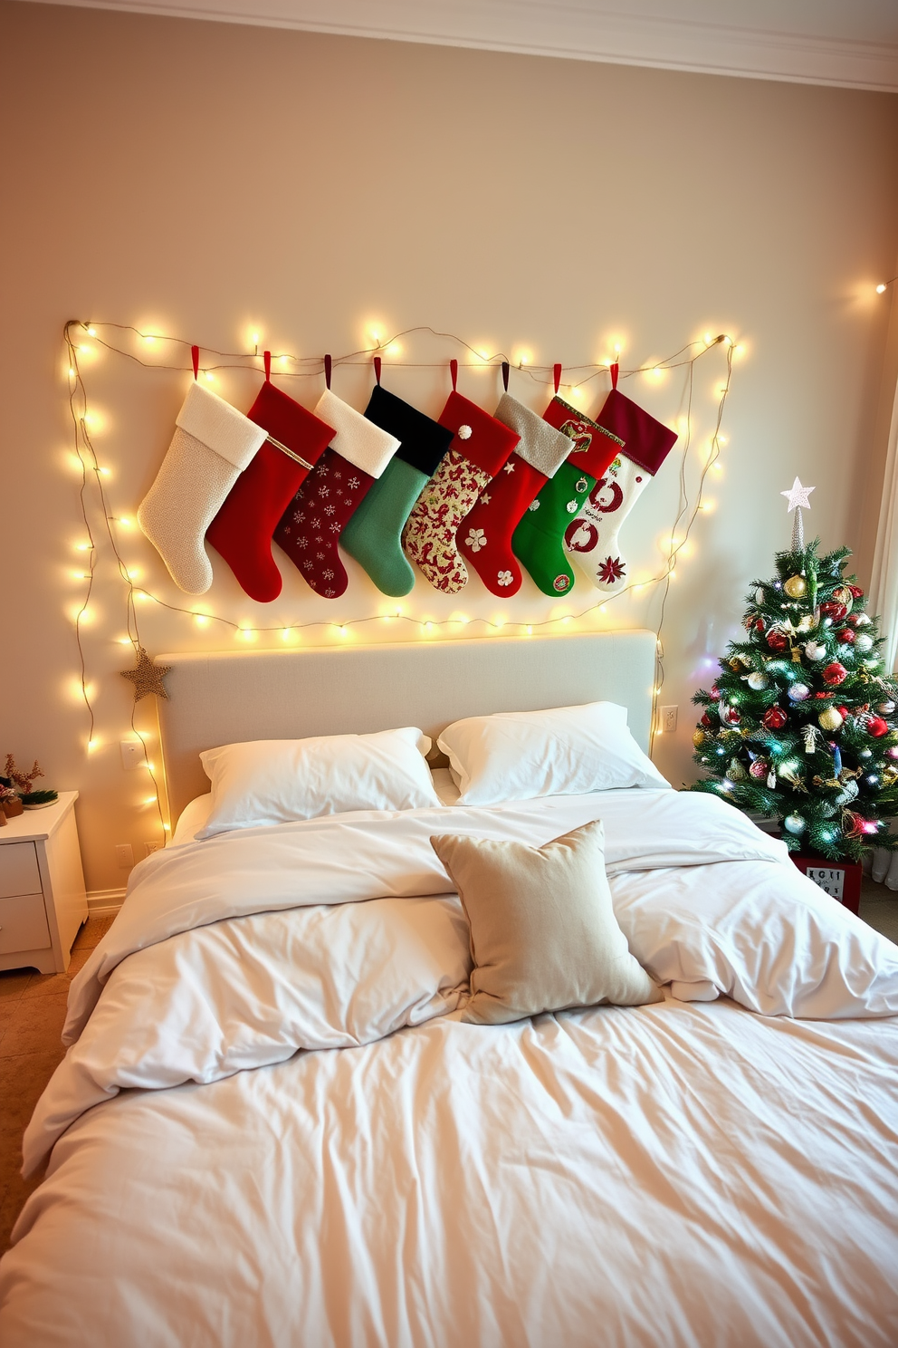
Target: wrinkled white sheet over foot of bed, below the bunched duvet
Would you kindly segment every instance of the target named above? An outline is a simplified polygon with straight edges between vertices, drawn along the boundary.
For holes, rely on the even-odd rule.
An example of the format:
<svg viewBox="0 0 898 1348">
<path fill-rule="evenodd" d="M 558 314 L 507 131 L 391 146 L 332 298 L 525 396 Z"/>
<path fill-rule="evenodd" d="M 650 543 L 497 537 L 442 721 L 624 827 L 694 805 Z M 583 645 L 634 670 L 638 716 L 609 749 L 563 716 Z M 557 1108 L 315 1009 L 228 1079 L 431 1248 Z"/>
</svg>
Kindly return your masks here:
<svg viewBox="0 0 898 1348">
<path fill-rule="evenodd" d="M 4 1348 L 894 1348 L 898 1024 L 452 1018 L 57 1144 Z"/>
</svg>

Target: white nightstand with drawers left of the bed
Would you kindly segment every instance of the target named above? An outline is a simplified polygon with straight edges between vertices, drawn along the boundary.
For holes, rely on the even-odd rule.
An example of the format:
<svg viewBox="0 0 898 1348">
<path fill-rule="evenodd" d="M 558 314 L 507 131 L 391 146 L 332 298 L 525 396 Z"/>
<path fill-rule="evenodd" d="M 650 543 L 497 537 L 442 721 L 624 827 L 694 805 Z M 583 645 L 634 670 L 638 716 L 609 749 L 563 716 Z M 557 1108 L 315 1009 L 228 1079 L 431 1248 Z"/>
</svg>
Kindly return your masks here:
<svg viewBox="0 0 898 1348">
<path fill-rule="evenodd" d="M 77 791 L 0 829 L 0 969 L 63 973 L 88 895 L 75 828 Z"/>
</svg>

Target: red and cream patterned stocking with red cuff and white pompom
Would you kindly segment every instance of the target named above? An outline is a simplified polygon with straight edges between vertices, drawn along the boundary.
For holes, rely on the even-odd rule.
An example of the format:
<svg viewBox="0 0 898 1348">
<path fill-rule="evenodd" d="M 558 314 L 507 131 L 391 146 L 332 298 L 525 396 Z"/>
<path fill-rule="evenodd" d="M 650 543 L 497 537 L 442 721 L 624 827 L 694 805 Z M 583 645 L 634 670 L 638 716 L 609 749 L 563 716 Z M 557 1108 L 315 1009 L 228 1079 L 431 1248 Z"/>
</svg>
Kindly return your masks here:
<svg viewBox="0 0 898 1348">
<path fill-rule="evenodd" d="M 454 431 L 452 443 L 408 516 L 403 547 L 435 589 L 456 594 L 467 584 L 467 569 L 455 546 L 458 526 L 518 435 L 455 390 L 440 412 L 440 426 Z"/>
</svg>

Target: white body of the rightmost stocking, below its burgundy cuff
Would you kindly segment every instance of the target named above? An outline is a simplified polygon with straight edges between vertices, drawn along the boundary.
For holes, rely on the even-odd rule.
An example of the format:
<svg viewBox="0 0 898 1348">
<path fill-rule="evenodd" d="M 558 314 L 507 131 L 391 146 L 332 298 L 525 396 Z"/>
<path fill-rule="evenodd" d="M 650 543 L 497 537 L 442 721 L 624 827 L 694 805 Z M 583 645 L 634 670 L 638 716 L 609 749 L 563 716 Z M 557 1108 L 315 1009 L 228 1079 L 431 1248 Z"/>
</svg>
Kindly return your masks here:
<svg viewBox="0 0 898 1348">
<path fill-rule="evenodd" d="M 565 551 L 600 590 L 623 589 L 631 580 L 618 535 L 650 481 L 652 473 L 618 454 L 565 530 Z"/>
</svg>

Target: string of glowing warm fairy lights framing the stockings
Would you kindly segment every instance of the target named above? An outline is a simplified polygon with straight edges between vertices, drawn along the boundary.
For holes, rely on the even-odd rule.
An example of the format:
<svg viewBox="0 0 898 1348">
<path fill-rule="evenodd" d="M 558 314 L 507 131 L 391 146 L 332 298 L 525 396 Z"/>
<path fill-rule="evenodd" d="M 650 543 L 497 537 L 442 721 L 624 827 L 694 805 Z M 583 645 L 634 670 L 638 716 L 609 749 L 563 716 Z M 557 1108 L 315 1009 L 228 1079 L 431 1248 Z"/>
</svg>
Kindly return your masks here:
<svg viewBox="0 0 898 1348">
<path fill-rule="evenodd" d="M 526 355 L 521 353 L 516 361 L 512 360 L 504 352 L 487 353 L 482 349 L 475 348 L 464 338 L 458 337 L 454 333 L 439 332 L 434 328 L 415 326 L 407 328 L 393 336 L 385 336 L 381 333 L 373 333 L 369 345 L 362 346 L 357 350 L 347 352 L 345 355 L 324 357 L 324 356 L 299 356 L 291 352 L 272 353 L 272 369 L 273 373 L 283 380 L 319 380 L 324 372 L 326 363 L 331 365 L 333 369 L 339 367 L 372 367 L 373 359 L 377 356 L 381 359 L 384 369 L 390 367 L 399 369 L 448 369 L 447 360 L 439 361 L 413 361 L 403 357 L 403 342 L 411 337 L 419 334 L 429 334 L 432 337 L 440 338 L 454 344 L 463 353 L 463 359 L 459 360 L 459 368 L 462 369 L 499 369 L 505 365 L 505 371 L 513 368 L 520 376 L 525 376 L 533 383 L 545 386 L 547 388 L 553 388 L 555 383 L 555 367 L 541 365 L 533 363 Z M 141 647 L 140 635 L 140 620 L 137 615 L 137 600 L 144 603 L 152 603 L 162 609 L 171 613 L 179 613 L 187 617 L 191 623 L 206 627 L 209 624 L 218 624 L 221 628 L 230 630 L 237 639 L 254 642 L 260 635 L 276 634 L 288 643 L 292 639 L 300 638 L 300 634 L 307 632 L 312 628 L 319 628 L 323 632 L 330 632 L 334 639 L 345 639 L 353 630 L 364 630 L 369 624 L 382 624 L 385 621 L 405 624 L 407 628 L 415 630 L 419 638 L 432 639 L 439 635 L 448 635 L 452 638 L 470 636 L 471 628 L 481 628 L 487 635 L 494 635 L 502 632 L 505 635 L 518 635 L 530 636 L 534 632 L 545 630 L 564 630 L 572 621 L 580 621 L 587 619 L 590 615 L 605 613 L 607 605 L 615 599 L 621 599 L 625 593 L 642 592 L 653 585 L 661 586 L 661 605 L 660 605 L 660 619 L 657 625 L 657 677 L 653 687 L 653 728 L 656 721 L 657 697 L 664 685 L 664 643 L 662 643 L 662 627 L 664 617 L 666 612 L 666 603 L 670 590 L 670 582 L 676 577 L 677 558 L 683 550 L 689 543 L 691 532 L 699 518 L 699 512 L 708 508 L 708 501 L 705 500 L 705 480 L 708 473 L 718 465 L 720 458 L 722 448 L 726 443 L 726 438 L 722 434 L 723 415 L 727 404 L 727 399 L 731 391 L 732 381 L 732 364 L 734 356 L 742 352 L 742 346 L 734 341 L 726 333 L 712 334 L 705 333 L 703 337 L 695 338 L 680 346 L 673 355 L 652 361 L 648 365 L 640 365 L 633 368 L 625 368 L 619 365 L 621 345 L 614 344 L 613 352 L 609 357 L 602 361 L 591 361 L 579 365 L 564 367 L 564 383 L 560 387 L 561 396 L 568 399 L 572 406 L 578 403 L 584 403 L 587 395 L 592 395 L 595 391 L 598 394 L 598 381 L 603 380 L 610 375 L 611 364 L 619 365 L 619 380 L 627 380 L 637 375 L 664 377 L 664 375 L 683 369 L 684 371 L 684 388 L 681 392 L 681 406 L 685 406 L 685 412 L 677 421 L 679 429 L 679 449 L 680 449 L 680 465 L 679 465 L 679 495 L 677 495 L 677 508 L 673 524 L 670 527 L 669 535 L 665 532 L 665 539 L 668 539 L 666 557 L 658 572 L 658 574 L 649 577 L 648 580 L 630 581 L 615 590 L 613 594 L 603 594 L 594 603 L 584 604 L 578 612 L 567 612 L 561 616 L 551 617 L 534 617 L 534 619 L 495 619 L 486 616 L 471 616 L 471 617 L 448 617 L 442 620 L 434 619 L 420 619 L 412 613 L 403 612 L 401 607 L 390 608 L 388 612 L 368 613 L 361 617 L 349 617 L 342 621 L 334 621 L 329 619 L 311 619 L 306 621 L 292 621 L 292 623 L 256 623 L 252 625 L 234 621 L 232 617 L 225 615 L 211 612 L 210 605 L 203 605 L 198 611 L 197 607 L 187 608 L 186 605 L 171 603 L 170 600 L 162 599 L 155 594 L 145 585 L 136 584 L 136 577 L 133 568 L 131 568 L 123 555 L 123 550 L 118 541 L 118 530 L 129 530 L 135 527 L 135 519 L 125 511 L 114 507 L 109 500 L 108 480 L 109 469 L 101 462 L 97 449 L 92 437 L 93 415 L 92 407 L 88 396 L 88 387 L 85 383 L 82 360 L 81 357 L 88 353 L 96 353 L 98 350 L 106 352 L 110 356 L 135 363 L 144 368 L 171 371 L 174 373 L 190 373 L 193 369 L 191 363 L 191 348 L 193 342 L 182 337 L 171 337 L 167 334 L 156 332 L 144 332 L 131 324 L 114 324 L 114 322 L 89 322 L 81 319 L 70 319 L 66 322 L 63 329 L 63 341 L 67 359 L 66 379 L 67 379 L 67 394 L 69 394 L 69 412 L 71 421 L 71 435 L 74 454 L 79 466 L 81 485 L 79 485 L 79 507 L 82 522 L 85 527 L 85 541 L 77 545 L 81 551 L 86 554 L 85 569 L 81 578 L 85 581 L 85 590 L 81 597 L 79 607 L 74 617 L 74 631 L 75 643 L 78 648 L 78 665 L 79 665 L 79 696 L 85 705 L 88 720 L 89 720 L 89 733 L 88 733 L 88 749 L 94 749 L 98 745 L 96 735 L 96 714 L 93 706 L 93 698 L 90 693 L 90 681 L 88 675 L 88 662 L 85 655 L 83 631 L 82 628 L 89 621 L 92 596 L 94 589 L 96 569 L 100 558 L 100 549 L 97 534 L 92 526 L 90 507 L 89 507 L 89 488 L 96 492 L 96 500 L 98 503 L 98 512 L 102 520 L 102 532 L 109 543 L 114 565 L 117 568 L 118 576 L 124 586 L 124 611 L 125 611 L 125 631 L 127 636 L 120 640 L 123 644 L 131 644 L 135 654 L 137 654 Z M 156 355 L 156 352 L 166 352 L 166 356 L 171 353 L 171 360 L 158 360 L 158 359 L 144 359 L 143 355 L 137 355 L 127 348 L 128 341 L 135 341 L 141 344 L 147 355 Z M 88 344 L 89 342 L 89 344 Z M 252 334 L 252 350 L 238 350 L 238 352 L 223 352 L 211 348 L 201 348 L 201 364 L 199 364 L 199 377 L 214 383 L 217 376 L 223 371 L 257 371 L 260 375 L 264 373 L 263 367 L 263 353 L 258 346 L 260 338 L 257 333 Z M 696 364 L 703 359 L 707 359 L 714 352 L 723 352 L 724 356 L 724 373 L 719 380 L 716 387 L 716 414 L 714 417 L 714 431 L 707 442 L 707 453 L 699 465 L 697 485 L 691 493 L 687 481 L 687 469 L 689 462 L 689 456 L 692 450 L 692 407 L 693 407 L 693 386 L 695 386 L 695 369 Z M 148 744 L 145 736 L 136 725 L 135 708 L 132 705 L 131 713 L 131 729 L 136 739 L 139 739 L 144 747 L 145 764 L 149 770 L 149 775 L 155 787 L 155 802 L 159 810 L 159 820 L 163 830 L 168 830 L 168 825 L 164 820 L 162 810 L 162 803 L 159 799 L 159 783 L 155 776 L 155 767 L 151 762 L 148 754 Z M 147 801 L 145 803 L 151 803 Z"/>
</svg>

